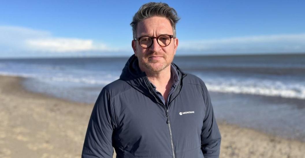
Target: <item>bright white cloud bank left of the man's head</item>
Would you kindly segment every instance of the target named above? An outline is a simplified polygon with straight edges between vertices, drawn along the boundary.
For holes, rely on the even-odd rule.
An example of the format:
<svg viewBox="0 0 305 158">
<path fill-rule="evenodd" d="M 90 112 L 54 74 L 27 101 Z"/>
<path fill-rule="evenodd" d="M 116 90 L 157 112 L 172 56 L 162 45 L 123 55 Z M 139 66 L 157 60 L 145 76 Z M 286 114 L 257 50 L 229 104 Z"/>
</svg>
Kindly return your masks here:
<svg viewBox="0 0 305 158">
<path fill-rule="evenodd" d="M 16 26 L 0 26 L 0 48 L 10 53 L 66 53 L 119 51 L 91 39 L 54 37 L 48 31 Z M 20 54 L 20 53 L 19 53 Z"/>
</svg>

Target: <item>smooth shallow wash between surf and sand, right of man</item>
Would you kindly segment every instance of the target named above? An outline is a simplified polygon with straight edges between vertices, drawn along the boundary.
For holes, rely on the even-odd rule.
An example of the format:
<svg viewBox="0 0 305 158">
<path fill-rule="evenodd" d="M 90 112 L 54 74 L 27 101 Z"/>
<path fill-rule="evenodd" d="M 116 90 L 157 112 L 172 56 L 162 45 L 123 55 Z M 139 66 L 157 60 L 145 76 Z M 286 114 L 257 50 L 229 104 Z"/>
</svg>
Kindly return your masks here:
<svg viewBox="0 0 305 158">
<path fill-rule="evenodd" d="M 305 142 L 305 100 L 211 92 L 217 120 Z"/>
</svg>

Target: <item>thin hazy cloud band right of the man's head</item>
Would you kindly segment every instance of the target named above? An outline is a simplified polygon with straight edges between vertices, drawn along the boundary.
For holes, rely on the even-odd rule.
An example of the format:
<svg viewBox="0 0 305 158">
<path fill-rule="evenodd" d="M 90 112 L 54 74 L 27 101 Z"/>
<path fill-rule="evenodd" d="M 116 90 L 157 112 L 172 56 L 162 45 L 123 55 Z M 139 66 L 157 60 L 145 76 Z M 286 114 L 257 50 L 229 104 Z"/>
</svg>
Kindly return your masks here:
<svg viewBox="0 0 305 158">
<path fill-rule="evenodd" d="M 210 54 L 305 52 L 305 33 L 180 41 L 178 48 Z"/>
</svg>

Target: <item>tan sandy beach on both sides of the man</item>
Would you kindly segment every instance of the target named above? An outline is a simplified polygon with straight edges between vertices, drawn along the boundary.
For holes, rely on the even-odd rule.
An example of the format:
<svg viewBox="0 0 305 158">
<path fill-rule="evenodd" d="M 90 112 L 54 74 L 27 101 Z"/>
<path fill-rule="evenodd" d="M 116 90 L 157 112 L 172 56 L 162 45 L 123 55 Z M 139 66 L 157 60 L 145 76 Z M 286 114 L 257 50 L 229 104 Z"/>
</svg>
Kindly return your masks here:
<svg viewBox="0 0 305 158">
<path fill-rule="evenodd" d="M 93 104 L 28 92 L 22 80 L 0 76 L 0 157 L 81 157 Z M 218 124 L 220 157 L 305 157 L 305 142 Z"/>
</svg>

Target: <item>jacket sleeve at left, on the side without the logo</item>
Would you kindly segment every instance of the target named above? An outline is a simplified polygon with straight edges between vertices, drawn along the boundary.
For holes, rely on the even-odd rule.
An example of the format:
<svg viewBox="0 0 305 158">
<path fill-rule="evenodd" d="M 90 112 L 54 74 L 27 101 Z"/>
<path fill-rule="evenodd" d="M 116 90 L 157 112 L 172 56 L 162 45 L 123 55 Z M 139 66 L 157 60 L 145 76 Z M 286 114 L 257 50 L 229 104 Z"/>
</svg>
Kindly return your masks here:
<svg viewBox="0 0 305 158">
<path fill-rule="evenodd" d="M 93 107 L 85 136 L 82 158 L 112 158 L 113 106 L 104 88 Z"/>
</svg>

